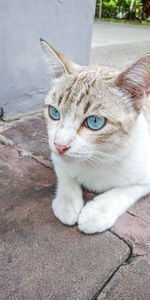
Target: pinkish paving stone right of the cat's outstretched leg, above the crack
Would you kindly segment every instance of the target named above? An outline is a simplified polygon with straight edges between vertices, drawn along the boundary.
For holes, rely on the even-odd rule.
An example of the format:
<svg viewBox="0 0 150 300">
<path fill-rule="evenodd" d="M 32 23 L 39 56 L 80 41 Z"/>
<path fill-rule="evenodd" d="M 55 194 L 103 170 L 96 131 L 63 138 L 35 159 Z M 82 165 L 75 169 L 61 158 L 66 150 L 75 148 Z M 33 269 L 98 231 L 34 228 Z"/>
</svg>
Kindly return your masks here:
<svg viewBox="0 0 150 300">
<path fill-rule="evenodd" d="M 147 196 L 123 214 L 112 228 L 133 248 L 133 254 L 150 252 L 150 196 Z"/>
</svg>

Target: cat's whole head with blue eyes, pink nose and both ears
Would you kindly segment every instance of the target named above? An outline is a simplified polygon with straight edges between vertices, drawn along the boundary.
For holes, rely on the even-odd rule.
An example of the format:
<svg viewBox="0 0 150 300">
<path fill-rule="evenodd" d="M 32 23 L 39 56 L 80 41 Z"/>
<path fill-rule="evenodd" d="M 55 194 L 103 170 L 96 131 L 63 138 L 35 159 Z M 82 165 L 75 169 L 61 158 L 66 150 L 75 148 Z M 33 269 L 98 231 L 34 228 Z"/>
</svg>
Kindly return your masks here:
<svg viewBox="0 0 150 300">
<path fill-rule="evenodd" d="M 41 41 L 53 77 L 45 100 L 51 150 L 88 160 L 125 151 L 150 88 L 150 54 L 122 73 L 79 66 Z"/>
</svg>

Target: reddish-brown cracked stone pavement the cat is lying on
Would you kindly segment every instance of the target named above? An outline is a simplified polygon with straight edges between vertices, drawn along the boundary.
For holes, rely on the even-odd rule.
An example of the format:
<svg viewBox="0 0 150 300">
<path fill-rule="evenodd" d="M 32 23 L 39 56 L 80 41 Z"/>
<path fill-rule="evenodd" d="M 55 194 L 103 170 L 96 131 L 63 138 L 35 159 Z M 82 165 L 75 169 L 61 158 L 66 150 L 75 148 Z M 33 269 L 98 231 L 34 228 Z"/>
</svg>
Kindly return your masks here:
<svg viewBox="0 0 150 300">
<path fill-rule="evenodd" d="M 42 115 L 0 128 L 0 299 L 149 300 L 150 197 L 102 234 L 65 226 Z"/>
</svg>

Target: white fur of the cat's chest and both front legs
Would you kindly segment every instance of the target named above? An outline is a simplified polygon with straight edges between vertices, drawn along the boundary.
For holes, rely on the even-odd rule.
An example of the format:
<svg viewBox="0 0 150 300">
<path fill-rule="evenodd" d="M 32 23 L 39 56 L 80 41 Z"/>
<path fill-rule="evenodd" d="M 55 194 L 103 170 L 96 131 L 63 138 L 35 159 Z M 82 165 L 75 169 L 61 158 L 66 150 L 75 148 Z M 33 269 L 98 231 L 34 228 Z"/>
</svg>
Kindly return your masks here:
<svg viewBox="0 0 150 300">
<path fill-rule="evenodd" d="M 69 161 L 52 154 L 58 176 L 52 207 L 60 221 L 68 225 L 78 222 L 85 233 L 102 232 L 150 192 L 150 138 L 143 114 L 135 122 L 127 148 L 125 154 L 120 153 L 119 160 L 112 160 L 111 168 L 110 164 L 91 168 L 88 162 Z M 83 207 L 80 184 L 97 193 L 106 192 Z"/>
</svg>

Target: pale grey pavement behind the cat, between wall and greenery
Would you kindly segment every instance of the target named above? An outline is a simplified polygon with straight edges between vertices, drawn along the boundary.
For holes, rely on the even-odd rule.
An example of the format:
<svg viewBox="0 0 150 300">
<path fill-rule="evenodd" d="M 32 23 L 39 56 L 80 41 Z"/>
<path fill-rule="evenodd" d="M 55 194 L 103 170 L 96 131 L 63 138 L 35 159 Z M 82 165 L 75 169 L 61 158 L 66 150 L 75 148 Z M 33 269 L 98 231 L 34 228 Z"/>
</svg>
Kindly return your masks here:
<svg viewBox="0 0 150 300">
<path fill-rule="evenodd" d="M 91 63 L 123 69 L 150 52 L 150 27 L 96 22 Z"/>
</svg>

